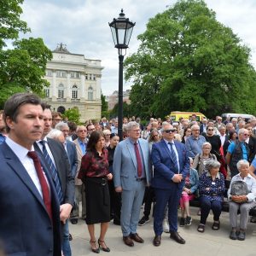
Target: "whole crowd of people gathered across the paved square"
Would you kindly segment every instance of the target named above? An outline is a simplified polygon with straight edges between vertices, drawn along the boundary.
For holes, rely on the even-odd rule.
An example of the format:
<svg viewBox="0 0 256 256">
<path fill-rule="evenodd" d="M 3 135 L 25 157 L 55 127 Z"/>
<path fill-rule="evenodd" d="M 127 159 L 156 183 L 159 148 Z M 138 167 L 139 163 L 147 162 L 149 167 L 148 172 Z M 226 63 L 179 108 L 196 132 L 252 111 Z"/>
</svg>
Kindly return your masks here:
<svg viewBox="0 0 256 256">
<path fill-rule="evenodd" d="M 118 119 L 74 124 L 38 96 L 9 98 L 0 112 L 0 241 L 8 255 L 72 255 L 68 224 L 79 218 L 92 252 L 110 252 L 111 219 L 133 247 L 144 242 L 137 226 L 150 221 L 153 203 L 154 246 L 163 232 L 184 244 L 177 226 L 192 223 L 189 201 L 200 201 L 203 233 L 211 210 L 212 230 L 220 229 L 224 196 L 230 239 L 246 239 L 248 212 L 256 206 L 256 119 L 192 115 L 178 122 L 150 118 L 143 126 L 131 117 L 122 125 L 119 138 Z"/>
</svg>

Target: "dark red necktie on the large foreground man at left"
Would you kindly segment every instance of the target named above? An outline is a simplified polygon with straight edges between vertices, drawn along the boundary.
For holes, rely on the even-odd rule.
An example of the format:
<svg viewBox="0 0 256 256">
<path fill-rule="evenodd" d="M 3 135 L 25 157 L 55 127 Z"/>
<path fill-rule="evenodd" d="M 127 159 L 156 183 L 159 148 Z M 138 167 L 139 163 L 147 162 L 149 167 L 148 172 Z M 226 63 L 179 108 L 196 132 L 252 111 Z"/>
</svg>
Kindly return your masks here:
<svg viewBox="0 0 256 256">
<path fill-rule="evenodd" d="M 38 154 L 35 151 L 29 151 L 27 155 L 32 158 L 35 169 L 38 173 L 38 179 L 41 184 L 41 189 L 43 193 L 43 200 L 44 200 L 44 205 L 46 207 L 46 210 L 49 214 L 49 218 L 52 219 L 52 209 L 51 209 L 51 201 L 50 201 L 50 196 L 49 196 L 49 187 L 46 182 L 46 179 L 44 177 L 43 169 L 40 163 L 40 160 L 38 159 Z"/>
</svg>

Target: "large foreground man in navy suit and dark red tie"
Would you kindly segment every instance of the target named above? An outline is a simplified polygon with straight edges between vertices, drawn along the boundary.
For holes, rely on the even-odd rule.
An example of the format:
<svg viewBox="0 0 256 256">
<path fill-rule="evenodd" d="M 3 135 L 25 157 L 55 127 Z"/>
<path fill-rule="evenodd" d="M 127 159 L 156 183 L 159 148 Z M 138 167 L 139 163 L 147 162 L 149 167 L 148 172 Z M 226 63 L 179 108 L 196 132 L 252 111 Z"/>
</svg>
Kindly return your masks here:
<svg viewBox="0 0 256 256">
<path fill-rule="evenodd" d="M 43 117 L 32 94 L 15 94 L 4 106 L 9 137 L 0 145 L 0 240 L 7 255 L 61 256 L 60 205 L 33 148 Z"/>
</svg>

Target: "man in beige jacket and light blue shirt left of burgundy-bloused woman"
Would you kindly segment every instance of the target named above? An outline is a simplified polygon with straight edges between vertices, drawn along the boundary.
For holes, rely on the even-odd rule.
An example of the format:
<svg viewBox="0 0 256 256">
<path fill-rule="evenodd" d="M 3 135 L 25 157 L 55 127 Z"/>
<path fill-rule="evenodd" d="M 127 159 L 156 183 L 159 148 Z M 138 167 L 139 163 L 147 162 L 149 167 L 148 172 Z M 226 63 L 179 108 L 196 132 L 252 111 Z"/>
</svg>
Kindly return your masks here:
<svg viewBox="0 0 256 256">
<path fill-rule="evenodd" d="M 94 125 L 87 125 L 87 127 L 94 128 Z M 95 128 L 94 128 L 95 131 Z M 92 132 L 92 131 L 91 131 Z M 86 153 L 86 147 L 88 143 L 87 129 L 84 125 L 79 125 L 77 127 L 78 138 L 73 141 L 76 146 L 78 155 L 78 166 L 75 173 L 75 207 L 70 217 L 70 222 L 72 224 L 78 224 L 79 221 L 79 202 L 82 201 L 82 218 L 86 217 L 86 201 L 85 201 L 85 188 L 84 183 L 78 178 L 81 160 Z"/>
</svg>

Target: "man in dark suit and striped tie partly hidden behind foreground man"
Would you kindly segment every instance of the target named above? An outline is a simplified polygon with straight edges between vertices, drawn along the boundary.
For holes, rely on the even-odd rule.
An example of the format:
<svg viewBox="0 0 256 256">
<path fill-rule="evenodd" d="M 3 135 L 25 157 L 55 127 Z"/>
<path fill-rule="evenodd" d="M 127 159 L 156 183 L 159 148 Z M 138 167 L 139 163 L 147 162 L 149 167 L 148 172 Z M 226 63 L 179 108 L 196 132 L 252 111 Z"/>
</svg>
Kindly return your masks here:
<svg viewBox="0 0 256 256">
<path fill-rule="evenodd" d="M 55 188 L 60 200 L 60 218 L 62 227 L 62 251 L 65 256 L 71 255 L 69 244 L 68 222 L 74 204 L 74 177 L 63 145 L 47 136 L 51 130 L 52 115 L 49 108 L 44 109 L 44 132 L 41 140 L 34 143 L 36 151 L 44 158 L 46 165 L 52 170 Z M 47 153 L 45 153 L 45 150 Z M 56 173 L 55 173 L 56 172 Z"/>
</svg>

